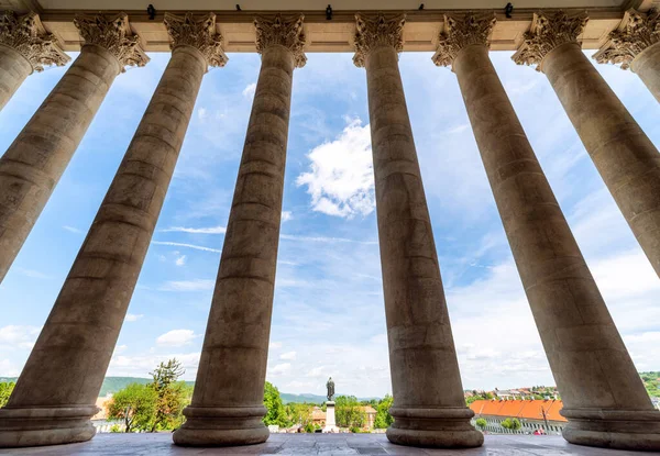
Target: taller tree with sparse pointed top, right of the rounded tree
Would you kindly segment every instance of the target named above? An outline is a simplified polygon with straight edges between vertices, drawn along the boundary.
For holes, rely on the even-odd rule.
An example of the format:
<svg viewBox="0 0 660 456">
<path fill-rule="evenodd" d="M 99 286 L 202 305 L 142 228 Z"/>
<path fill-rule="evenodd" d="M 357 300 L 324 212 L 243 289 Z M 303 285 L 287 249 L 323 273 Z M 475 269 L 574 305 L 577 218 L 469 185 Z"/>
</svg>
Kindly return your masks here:
<svg viewBox="0 0 660 456">
<path fill-rule="evenodd" d="M 158 398 L 151 432 L 175 430 L 184 423 L 183 412 L 193 397 L 191 388 L 184 381 L 177 381 L 184 372 L 182 364 L 176 358 L 161 363 L 151 372 L 153 381 L 148 386 Z"/>
</svg>

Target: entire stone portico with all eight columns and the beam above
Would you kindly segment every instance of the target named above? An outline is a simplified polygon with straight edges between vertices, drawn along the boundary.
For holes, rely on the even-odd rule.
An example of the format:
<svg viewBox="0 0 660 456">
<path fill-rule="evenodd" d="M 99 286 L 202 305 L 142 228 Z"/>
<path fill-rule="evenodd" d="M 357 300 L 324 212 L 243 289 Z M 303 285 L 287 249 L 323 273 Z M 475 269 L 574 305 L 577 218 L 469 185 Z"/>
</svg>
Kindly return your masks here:
<svg viewBox="0 0 660 456">
<path fill-rule="evenodd" d="M 135 2 L 122 5 L 138 8 Z M 219 264 L 183 446 L 270 437 L 262 404 L 293 79 L 306 53 L 351 52 L 364 68 L 395 421 L 391 442 L 477 447 L 440 276 L 402 52 L 435 52 L 453 71 L 568 419 L 571 443 L 660 449 L 653 408 L 580 246 L 491 63 L 548 79 L 650 264 L 660 274 L 660 159 L 600 64 L 630 68 L 660 100 L 660 11 L 653 0 L 168 0 L 119 12 L 110 0 L 0 0 L 0 108 L 33 71 L 79 52 L 0 157 L 0 279 L 46 207 L 127 66 L 170 59 L 130 141 L 7 407 L 0 447 L 84 442 L 165 201 L 201 81 L 226 52 L 261 70 Z M 301 11 L 307 4 L 310 11 Z M 158 5 L 160 7 L 160 5 Z M 90 13 L 94 11 L 94 13 Z M 531 71 L 531 69 L 530 69 Z M 442 98 L 439 91 L 438 98 Z M 542 115 L 542 107 L 538 114 Z M 294 113 L 295 114 L 295 113 Z M 553 125 L 548 125 L 550 130 Z M 110 125 L 108 127 L 111 127 Z M 218 125 L 222 127 L 222 125 Z M 513 396 L 513 394 L 512 394 Z M 508 407 L 508 405 L 507 405 Z"/>
</svg>

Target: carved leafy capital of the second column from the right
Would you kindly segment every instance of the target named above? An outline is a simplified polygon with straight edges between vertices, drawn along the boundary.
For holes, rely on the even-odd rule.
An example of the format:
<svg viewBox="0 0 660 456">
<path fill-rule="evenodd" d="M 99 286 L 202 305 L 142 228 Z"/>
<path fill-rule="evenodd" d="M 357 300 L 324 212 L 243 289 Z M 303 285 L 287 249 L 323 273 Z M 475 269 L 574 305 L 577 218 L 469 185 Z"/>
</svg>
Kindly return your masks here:
<svg viewBox="0 0 660 456">
<path fill-rule="evenodd" d="M 522 44 L 513 60 L 518 65 L 536 65 L 540 71 L 550 51 L 562 44 L 578 43 L 587 21 L 586 12 L 571 15 L 564 11 L 535 13 L 531 27 L 522 35 Z"/>
</svg>

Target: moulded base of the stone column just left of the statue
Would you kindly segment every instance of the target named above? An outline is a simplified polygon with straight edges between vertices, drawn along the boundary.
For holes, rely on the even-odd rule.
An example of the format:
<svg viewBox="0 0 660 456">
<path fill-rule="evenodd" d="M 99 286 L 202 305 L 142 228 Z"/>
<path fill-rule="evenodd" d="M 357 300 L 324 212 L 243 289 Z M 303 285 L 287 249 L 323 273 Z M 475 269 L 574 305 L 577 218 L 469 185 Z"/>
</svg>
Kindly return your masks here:
<svg viewBox="0 0 660 456">
<path fill-rule="evenodd" d="M 186 407 L 186 422 L 175 431 L 179 446 L 234 446 L 264 443 L 271 435 L 262 407 Z"/>
</svg>

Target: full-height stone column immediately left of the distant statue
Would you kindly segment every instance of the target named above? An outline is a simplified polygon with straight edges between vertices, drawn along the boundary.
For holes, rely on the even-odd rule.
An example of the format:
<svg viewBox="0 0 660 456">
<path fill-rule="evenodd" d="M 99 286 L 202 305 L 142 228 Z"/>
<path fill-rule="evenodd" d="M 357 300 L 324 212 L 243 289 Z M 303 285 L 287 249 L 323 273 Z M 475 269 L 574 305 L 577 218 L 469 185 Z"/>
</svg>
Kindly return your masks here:
<svg viewBox="0 0 660 456">
<path fill-rule="evenodd" d="M 258 18 L 262 66 L 248 124 L 193 403 L 174 443 L 265 442 L 262 422 L 294 68 L 302 15 Z"/>
</svg>

